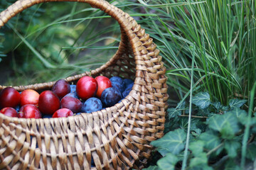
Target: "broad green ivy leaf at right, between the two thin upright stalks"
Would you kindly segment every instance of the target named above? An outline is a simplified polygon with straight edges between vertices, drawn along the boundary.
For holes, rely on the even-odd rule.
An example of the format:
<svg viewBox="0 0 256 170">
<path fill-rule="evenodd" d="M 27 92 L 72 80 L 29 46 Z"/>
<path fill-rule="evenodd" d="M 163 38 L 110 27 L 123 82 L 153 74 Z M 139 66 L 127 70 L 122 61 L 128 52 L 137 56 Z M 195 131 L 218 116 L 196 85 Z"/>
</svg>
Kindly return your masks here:
<svg viewBox="0 0 256 170">
<path fill-rule="evenodd" d="M 215 115 L 208 120 L 209 128 L 217 130 L 225 139 L 232 139 L 239 131 L 238 118 L 233 113 Z"/>
</svg>

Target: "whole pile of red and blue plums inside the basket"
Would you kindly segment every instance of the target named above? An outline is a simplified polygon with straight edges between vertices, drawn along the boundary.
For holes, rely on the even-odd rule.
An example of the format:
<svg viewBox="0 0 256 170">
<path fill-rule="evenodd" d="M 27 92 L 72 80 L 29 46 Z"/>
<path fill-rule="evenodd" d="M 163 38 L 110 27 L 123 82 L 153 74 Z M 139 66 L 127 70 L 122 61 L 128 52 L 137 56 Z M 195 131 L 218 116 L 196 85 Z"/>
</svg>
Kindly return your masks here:
<svg viewBox="0 0 256 170">
<path fill-rule="evenodd" d="M 60 79 L 38 94 L 6 87 L 0 92 L 0 113 L 18 118 L 60 118 L 114 106 L 132 90 L 134 81 L 121 77 L 82 77 L 76 85 Z"/>
</svg>

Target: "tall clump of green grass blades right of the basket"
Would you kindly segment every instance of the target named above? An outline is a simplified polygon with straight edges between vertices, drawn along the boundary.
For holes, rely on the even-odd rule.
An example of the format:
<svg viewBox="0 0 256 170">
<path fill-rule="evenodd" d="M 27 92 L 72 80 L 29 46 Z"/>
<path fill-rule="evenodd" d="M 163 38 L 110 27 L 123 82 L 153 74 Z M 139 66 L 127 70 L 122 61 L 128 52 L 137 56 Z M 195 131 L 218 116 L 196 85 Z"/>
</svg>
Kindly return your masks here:
<svg viewBox="0 0 256 170">
<path fill-rule="evenodd" d="M 169 85 L 189 91 L 195 50 L 194 92 L 208 91 L 223 104 L 247 98 L 256 81 L 255 1 L 139 1 L 146 29 L 159 45 Z M 214 96 L 214 97 L 213 97 Z"/>
</svg>

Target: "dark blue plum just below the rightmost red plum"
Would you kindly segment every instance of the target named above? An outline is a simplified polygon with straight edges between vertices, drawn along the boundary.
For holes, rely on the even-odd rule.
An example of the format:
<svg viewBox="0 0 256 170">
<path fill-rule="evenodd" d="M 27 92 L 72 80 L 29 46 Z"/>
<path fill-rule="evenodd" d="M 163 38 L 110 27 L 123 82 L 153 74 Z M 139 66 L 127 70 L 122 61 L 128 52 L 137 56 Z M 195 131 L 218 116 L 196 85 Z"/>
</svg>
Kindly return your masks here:
<svg viewBox="0 0 256 170">
<path fill-rule="evenodd" d="M 100 100 L 102 101 L 103 106 L 110 107 L 114 106 L 118 101 L 122 99 L 122 94 L 120 91 L 114 87 L 105 89 L 102 92 Z"/>
</svg>

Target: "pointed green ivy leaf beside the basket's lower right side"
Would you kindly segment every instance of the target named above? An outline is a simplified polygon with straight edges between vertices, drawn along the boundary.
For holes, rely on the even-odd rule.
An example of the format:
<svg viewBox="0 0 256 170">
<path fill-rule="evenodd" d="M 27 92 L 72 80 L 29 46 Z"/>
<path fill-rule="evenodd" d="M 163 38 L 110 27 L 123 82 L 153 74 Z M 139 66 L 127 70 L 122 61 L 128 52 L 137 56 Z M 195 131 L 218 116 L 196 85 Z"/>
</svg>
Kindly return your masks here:
<svg viewBox="0 0 256 170">
<path fill-rule="evenodd" d="M 164 137 L 159 140 L 155 140 L 151 142 L 151 145 L 154 147 L 160 148 L 162 151 L 164 149 L 164 153 L 166 154 L 168 151 L 172 154 L 178 154 L 184 149 L 183 141 L 186 139 L 186 133 L 184 130 L 177 129 L 171 132 L 166 133 Z"/>
</svg>

